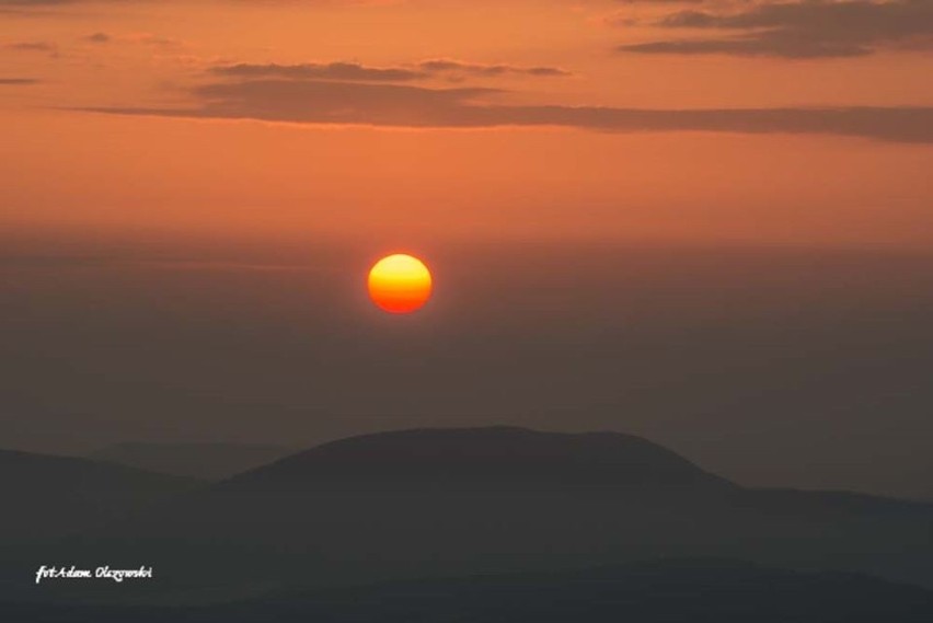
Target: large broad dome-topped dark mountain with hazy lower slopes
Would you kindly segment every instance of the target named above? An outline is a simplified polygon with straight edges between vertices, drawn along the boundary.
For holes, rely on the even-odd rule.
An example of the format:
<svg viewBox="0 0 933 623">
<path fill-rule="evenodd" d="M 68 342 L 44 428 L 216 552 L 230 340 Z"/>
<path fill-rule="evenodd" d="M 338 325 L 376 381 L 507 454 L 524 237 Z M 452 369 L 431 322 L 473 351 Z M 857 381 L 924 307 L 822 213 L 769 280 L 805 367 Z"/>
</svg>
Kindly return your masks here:
<svg viewBox="0 0 933 623">
<path fill-rule="evenodd" d="M 745 488 L 637 437 L 491 427 L 324 443 L 48 551 L 73 564 L 153 566 L 158 581 L 120 596 L 157 601 L 658 557 L 933 588 L 931 529 L 930 505 Z M 65 585 L 42 591 L 80 595 Z"/>
</svg>

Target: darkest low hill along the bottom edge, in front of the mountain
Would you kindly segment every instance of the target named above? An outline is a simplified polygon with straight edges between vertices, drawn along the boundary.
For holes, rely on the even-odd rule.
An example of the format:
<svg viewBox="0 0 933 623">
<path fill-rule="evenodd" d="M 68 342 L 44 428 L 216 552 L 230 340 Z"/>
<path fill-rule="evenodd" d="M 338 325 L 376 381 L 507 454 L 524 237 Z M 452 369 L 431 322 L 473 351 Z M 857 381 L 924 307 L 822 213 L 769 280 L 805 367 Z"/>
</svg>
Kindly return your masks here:
<svg viewBox="0 0 933 623">
<path fill-rule="evenodd" d="M 929 623 L 933 592 L 845 574 L 667 561 L 292 592 L 208 607 L 0 604 L 57 623 Z"/>
</svg>

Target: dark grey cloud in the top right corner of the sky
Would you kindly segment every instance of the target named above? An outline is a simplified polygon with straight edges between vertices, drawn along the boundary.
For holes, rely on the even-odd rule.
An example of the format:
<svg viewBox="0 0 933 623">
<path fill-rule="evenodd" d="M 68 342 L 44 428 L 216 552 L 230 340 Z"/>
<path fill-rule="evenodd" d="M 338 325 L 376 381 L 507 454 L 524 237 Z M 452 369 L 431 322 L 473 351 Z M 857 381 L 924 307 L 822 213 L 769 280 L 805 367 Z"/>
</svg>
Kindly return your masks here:
<svg viewBox="0 0 933 623">
<path fill-rule="evenodd" d="M 933 2 L 805 0 L 761 3 L 737 12 L 678 11 L 656 25 L 729 34 L 715 38 L 654 41 L 617 49 L 638 54 L 853 57 L 879 49 L 933 47 Z"/>
</svg>

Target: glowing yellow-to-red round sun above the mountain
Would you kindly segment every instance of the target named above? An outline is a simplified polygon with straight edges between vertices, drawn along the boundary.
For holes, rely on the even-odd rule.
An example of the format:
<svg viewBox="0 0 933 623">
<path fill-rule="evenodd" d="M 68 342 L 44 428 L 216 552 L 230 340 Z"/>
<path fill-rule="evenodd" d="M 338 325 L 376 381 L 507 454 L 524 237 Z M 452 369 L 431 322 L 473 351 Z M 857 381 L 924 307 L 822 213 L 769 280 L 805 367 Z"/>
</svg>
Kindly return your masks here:
<svg viewBox="0 0 933 623">
<path fill-rule="evenodd" d="M 412 313 L 430 299 L 433 281 L 425 263 L 398 253 L 383 257 L 369 270 L 369 297 L 389 313 Z"/>
</svg>

